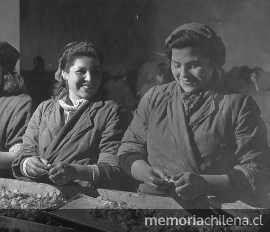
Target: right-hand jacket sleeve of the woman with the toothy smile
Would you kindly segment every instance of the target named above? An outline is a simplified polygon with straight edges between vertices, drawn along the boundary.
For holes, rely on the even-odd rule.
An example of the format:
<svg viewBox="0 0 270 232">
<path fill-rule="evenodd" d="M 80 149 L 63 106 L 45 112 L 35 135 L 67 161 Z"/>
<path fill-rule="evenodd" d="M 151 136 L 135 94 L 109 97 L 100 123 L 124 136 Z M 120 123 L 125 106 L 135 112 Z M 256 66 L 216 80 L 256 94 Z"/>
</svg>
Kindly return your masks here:
<svg viewBox="0 0 270 232">
<path fill-rule="evenodd" d="M 120 167 L 117 151 L 129 124 L 125 111 L 117 105 L 111 108 L 99 144 L 98 188 L 125 189 L 127 175 Z"/>
</svg>

